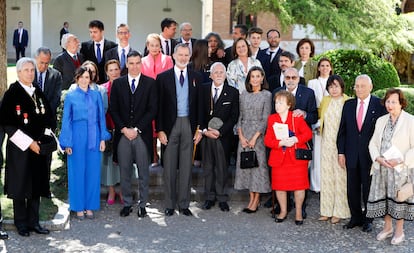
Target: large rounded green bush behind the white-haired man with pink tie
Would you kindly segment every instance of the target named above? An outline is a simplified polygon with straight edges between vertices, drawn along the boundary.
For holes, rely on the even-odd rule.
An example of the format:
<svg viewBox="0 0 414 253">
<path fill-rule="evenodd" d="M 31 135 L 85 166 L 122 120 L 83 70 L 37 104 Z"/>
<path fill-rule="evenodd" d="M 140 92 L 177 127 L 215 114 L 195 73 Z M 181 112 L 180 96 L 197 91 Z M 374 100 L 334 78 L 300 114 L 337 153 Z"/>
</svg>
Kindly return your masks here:
<svg viewBox="0 0 414 253">
<path fill-rule="evenodd" d="M 374 84 L 374 91 L 390 87 L 398 87 L 400 79 L 394 66 L 380 57 L 362 50 L 337 49 L 329 50 L 315 57 L 318 61 L 322 57 L 331 60 L 334 73 L 345 81 L 345 93 L 353 95 L 355 78 L 360 74 L 367 74 Z"/>
</svg>

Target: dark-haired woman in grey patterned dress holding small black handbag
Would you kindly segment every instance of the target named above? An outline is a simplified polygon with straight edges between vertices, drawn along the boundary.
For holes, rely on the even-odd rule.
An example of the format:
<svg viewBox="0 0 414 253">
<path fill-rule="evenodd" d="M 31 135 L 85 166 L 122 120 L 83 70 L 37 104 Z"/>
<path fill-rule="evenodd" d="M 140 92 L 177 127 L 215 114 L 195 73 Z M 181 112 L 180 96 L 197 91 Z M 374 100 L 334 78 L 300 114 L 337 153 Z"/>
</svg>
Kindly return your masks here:
<svg viewBox="0 0 414 253">
<path fill-rule="evenodd" d="M 239 147 L 234 188 L 249 190 L 250 201 L 243 212 L 254 213 L 259 207 L 260 193 L 271 191 L 263 136 L 272 109 L 272 94 L 266 90 L 268 86 L 263 69 L 257 66 L 249 70 L 245 87 L 246 90 L 240 95 L 240 115 L 236 125 Z M 256 151 L 258 167 L 240 168 L 240 152 L 244 149 Z"/>
</svg>

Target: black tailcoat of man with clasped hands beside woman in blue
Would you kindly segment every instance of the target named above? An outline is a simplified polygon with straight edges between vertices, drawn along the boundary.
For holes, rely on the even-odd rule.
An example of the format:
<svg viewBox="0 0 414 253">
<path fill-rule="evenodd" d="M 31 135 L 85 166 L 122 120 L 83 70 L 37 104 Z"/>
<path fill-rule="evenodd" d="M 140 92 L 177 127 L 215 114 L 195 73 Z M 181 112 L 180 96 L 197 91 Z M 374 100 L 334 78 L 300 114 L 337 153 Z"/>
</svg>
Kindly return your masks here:
<svg viewBox="0 0 414 253">
<path fill-rule="evenodd" d="M 158 96 L 155 80 L 141 74 L 134 93 L 128 83 L 128 75 L 115 79 L 109 98 L 109 111 L 115 123 L 115 143 L 121 137 L 121 129 L 138 128 L 147 146 L 152 152 L 152 120 L 157 114 Z"/>
</svg>

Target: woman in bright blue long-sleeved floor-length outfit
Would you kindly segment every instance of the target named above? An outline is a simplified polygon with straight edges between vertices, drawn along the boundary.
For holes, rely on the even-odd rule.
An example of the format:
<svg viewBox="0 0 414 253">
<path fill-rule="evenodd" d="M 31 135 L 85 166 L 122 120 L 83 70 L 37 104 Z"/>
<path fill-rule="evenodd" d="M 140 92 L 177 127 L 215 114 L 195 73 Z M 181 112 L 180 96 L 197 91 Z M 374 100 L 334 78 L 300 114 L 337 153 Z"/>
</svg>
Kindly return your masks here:
<svg viewBox="0 0 414 253">
<path fill-rule="evenodd" d="M 59 137 L 68 159 L 70 210 L 78 219 L 85 213 L 93 219 L 93 210 L 99 209 L 101 152 L 110 138 L 102 97 L 89 87 L 91 76 L 85 67 L 76 71 L 77 88 L 66 95 Z"/>
</svg>

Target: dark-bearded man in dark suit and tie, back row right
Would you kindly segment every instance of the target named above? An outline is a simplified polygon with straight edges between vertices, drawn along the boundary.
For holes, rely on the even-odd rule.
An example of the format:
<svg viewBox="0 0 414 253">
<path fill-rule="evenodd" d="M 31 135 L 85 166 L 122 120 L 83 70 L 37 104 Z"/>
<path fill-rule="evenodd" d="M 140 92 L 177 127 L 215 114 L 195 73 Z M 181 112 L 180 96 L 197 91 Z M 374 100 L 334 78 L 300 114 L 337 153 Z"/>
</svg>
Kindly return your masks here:
<svg viewBox="0 0 414 253">
<path fill-rule="evenodd" d="M 270 29 L 266 33 L 267 43 L 269 47 L 260 50 L 257 53 L 257 58 L 262 64 L 266 77 L 270 77 L 280 73 L 279 68 L 279 55 L 283 52 L 283 49 L 279 47 L 280 44 L 280 32 L 276 29 Z"/>
</svg>

